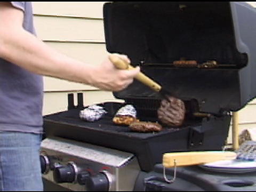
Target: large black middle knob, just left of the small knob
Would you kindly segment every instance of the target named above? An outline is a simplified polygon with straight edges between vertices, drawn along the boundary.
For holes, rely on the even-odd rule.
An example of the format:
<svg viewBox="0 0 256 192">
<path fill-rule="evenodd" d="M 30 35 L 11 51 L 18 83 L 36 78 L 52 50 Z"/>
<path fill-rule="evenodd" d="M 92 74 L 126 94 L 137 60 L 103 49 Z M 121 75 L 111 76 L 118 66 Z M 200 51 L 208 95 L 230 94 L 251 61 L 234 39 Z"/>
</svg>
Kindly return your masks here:
<svg viewBox="0 0 256 192">
<path fill-rule="evenodd" d="M 53 179 L 57 183 L 71 183 L 76 180 L 76 172 L 70 164 L 60 165 L 53 170 Z"/>
</svg>

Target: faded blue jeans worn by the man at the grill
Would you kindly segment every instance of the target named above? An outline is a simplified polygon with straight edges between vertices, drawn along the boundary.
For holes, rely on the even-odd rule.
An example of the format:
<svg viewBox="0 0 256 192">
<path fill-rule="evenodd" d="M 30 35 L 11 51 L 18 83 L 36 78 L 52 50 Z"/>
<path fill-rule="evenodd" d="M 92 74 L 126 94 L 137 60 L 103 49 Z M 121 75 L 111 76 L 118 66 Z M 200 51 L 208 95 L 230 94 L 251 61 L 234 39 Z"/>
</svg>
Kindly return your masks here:
<svg viewBox="0 0 256 192">
<path fill-rule="evenodd" d="M 0 132 L 0 190 L 43 191 L 41 134 Z"/>
</svg>

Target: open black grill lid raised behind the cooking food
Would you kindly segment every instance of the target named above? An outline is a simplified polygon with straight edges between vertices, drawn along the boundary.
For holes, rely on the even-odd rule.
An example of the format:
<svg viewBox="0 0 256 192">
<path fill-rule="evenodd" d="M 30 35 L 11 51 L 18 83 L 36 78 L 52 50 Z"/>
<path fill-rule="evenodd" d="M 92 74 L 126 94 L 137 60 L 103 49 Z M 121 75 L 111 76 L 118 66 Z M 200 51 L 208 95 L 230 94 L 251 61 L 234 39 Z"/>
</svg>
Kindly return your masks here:
<svg viewBox="0 0 256 192">
<path fill-rule="evenodd" d="M 196 99 L 201 111 L 236 111 L 255 98 L 256 9 L 251 5 L 112 2 L 104 4 L 103 19 L 109 52 L 129 55 L 133 66 L 140 65 L 174 96 Z M 173 65 L 179 60 L 198 65 Z M 138 81 L 114 95 L 160 97 Z"/>
</svg>

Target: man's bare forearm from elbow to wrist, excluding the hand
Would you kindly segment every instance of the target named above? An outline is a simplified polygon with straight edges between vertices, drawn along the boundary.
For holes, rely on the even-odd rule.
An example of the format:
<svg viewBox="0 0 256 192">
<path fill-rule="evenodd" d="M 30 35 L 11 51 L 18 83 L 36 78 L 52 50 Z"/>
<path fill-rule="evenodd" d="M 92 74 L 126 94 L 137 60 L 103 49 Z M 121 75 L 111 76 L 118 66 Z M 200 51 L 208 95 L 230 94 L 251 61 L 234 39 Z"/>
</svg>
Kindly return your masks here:
<svg viewBox="0 0 256 192">
<path fill-rule="evenodd" d="M 90 84 L 95 67 L 55 51 L 27 31 L 19 29 L 1 33 L 1 39 L 1 58 L 36 74 Z M 79 75 L 82 71 L 83 75 Z"/>
</svg>

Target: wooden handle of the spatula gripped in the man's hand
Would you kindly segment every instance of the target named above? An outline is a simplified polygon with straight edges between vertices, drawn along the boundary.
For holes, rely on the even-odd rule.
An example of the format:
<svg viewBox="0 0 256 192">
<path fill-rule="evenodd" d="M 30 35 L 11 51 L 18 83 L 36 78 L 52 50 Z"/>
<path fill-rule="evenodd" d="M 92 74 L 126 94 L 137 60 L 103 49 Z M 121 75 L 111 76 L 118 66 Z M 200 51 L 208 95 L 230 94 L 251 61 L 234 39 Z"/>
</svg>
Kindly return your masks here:
<svg viewBox="0 0 256 192">
<path fill-rule="evenodd" d="M 109 55 L 109 60 L 118 69 L 124 69 L 124 70 L 134 69 L 134 67 L 132 67 L 129 63 L 125 62 L 121 58 L 119 58 L 116 54 L 110 54 Z M 149 78 L 148 76 L 146 76 L 145 74 L 143 74 L 141 72 L 137 76 L 135 76 L 135 78 L 138 81 L 140 81 L 141 83 L 149 86 L 151 89 L 153 89 L 156 92 L 159 92 L 162 89 L 161 85 L 159 85 L 158 83 L 153 81 L 153 79 Z"/>
</svg>

